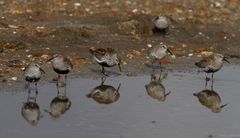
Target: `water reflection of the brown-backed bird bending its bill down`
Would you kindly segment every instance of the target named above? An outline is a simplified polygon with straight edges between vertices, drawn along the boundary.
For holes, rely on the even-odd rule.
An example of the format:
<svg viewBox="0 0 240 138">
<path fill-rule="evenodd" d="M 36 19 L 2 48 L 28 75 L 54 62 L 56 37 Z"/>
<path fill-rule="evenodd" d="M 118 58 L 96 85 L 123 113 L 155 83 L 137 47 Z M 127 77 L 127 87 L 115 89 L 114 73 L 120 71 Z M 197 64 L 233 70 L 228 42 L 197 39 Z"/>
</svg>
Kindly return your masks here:
<svg viewBox="0 0 240 138">
<path fill-rule="evenodd" d="M 95 87 L 86 96 L 88 98 L 92 98 L 100 104 L 111 104 L 116 102 L 120 97 L 119 89 L 121 87 L 121 84 L 119 84 L 117 89 L 115 89 L 111 85 L 104 85 L 105 80 L 106 78 L 102 78 L 101 85 Z"/>
</svg>

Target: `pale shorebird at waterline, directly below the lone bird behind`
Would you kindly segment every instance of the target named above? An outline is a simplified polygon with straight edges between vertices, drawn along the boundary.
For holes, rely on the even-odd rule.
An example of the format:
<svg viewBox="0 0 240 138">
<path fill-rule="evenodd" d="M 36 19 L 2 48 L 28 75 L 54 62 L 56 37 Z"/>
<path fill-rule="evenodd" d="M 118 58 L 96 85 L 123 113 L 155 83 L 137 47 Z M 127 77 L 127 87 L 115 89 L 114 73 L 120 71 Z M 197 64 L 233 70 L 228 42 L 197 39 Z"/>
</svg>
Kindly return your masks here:
<svg viewBox="0 0 240 138">
<path fill-rule="evenodd" d="M 160 60 L 160 59 L 164 58 L 165 56 L 167 56 L 168 54 L 173 55 L 173 53 L 163 43 L 160 43 L 159 45 L 152 47 L 149 50 L 149 56 L 152 59 L 152 68 L 153 68 L 153 64 L 156 60 Z M 160 67 L 161 67 L 161 63 L 160 63 Z M 161 70 L 162 70 L 162 68 L 161 68 Z"/>
</svg>

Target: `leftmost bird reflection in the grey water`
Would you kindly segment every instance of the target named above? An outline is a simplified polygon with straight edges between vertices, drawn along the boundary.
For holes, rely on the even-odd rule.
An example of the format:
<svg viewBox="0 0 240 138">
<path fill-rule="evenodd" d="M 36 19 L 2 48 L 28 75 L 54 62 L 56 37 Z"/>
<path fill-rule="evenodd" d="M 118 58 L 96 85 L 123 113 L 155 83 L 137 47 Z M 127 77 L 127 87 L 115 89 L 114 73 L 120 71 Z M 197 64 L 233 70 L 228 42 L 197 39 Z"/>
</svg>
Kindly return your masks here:
<svg viewBox="0 0 240 138">
<path fill-rule="evenodd" d="M 43 117 L 36 102 L 37 94 L 36 91 L 35 95 L 31 96 L 31 92 L 29 92 L 27 101 L 23 103 L 21 109 L 22 117 L 32 126 L 36 126 L 39 123 L 39 120 Z"/>
</svg>

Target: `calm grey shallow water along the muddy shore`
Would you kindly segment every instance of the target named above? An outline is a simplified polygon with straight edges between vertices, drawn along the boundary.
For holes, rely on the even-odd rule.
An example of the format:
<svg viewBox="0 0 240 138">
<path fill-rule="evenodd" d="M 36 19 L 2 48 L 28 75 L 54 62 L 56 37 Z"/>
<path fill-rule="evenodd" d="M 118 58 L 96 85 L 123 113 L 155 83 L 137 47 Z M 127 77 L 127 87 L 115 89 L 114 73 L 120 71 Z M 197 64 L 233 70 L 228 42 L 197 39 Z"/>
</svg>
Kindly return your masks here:
<svg viewBox="0 0 240 138">
<path fill-rule="evenodd" d="M 27 91 L 1 92 L 0 137 L 240 137 L 240 67 L 223 67 L 214 77 L 213 88 L 221 97 L 221 104 L 228 104 L 220 113 L 213 113 L 193 96 L 205 89 L 204 73 L 168 73 L 162 81 L 166 93 L 171 91 L 165 101 L 147 94 L 145 85 L 150 82 L 150 75 L 110 77 L 105 85 L 117 89 L 121 84 L 119 99 L 110 104 L 99 104 L 86 97 L 101 84 L 101 79 L 68 80 L 67 97 L 71 107 L 57 119 L 44 112 L 50 110 L 50 102 L 57 95 L 55 84 L 48 83 L 39 86 L 37 104 L 41 118 L 36 126 L 30 125 L 21 115 Z"/>
</svg>

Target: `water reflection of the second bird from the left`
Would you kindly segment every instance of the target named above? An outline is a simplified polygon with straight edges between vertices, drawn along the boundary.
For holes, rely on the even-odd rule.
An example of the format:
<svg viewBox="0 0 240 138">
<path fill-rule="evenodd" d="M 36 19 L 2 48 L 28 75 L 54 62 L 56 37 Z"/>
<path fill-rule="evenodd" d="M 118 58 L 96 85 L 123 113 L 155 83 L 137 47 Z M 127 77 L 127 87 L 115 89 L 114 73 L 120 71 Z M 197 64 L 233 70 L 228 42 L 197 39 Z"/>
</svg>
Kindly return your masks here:
<svg viewBox="0 0 240 138">
<path fill-rule="evenodd" d="M 57 87 L 59 87 L 59 86 L 57 85 Z M 69 98 L 67 97 L 66 86 L 64 86 L 64 93 L 61 93 L 59 91 L 59 88 L 57 88 L 57 96 L 54 97 L 50 103 L 51 111 L 45 110 L 45 112 L 49 113 L 49 115 L 52 118 L 57 119 L 61 115 L 66 113 L 70 109 L 71 105 L 72 105 L 72 103 L 69 100 Z"/>
</svg>

